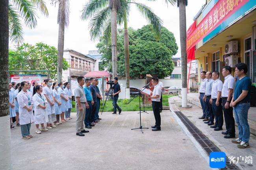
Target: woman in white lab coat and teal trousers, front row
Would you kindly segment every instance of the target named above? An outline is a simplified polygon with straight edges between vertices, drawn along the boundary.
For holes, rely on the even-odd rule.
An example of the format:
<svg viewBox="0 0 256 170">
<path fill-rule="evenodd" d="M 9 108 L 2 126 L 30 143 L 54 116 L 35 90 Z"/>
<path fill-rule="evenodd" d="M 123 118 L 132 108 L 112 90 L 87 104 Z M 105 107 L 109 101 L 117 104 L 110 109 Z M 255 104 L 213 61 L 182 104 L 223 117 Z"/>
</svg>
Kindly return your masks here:
<svg viewBox="0 0 256 170">
<path fill-rule="evenodd" d="M 17 100 L 19 103 L 19 118 L 20 118 L 20 127 L 22 139 L 30 139 L 30 127 L 31 127 L 31 116 L 30 112 L 33 109 L 33 98 L 31 93 L 27 92 L 28 83 L 21 82 L 19 94 L 17 95 Z M 33 112 L 32 112 L 33 115 Z"/>
</svg>

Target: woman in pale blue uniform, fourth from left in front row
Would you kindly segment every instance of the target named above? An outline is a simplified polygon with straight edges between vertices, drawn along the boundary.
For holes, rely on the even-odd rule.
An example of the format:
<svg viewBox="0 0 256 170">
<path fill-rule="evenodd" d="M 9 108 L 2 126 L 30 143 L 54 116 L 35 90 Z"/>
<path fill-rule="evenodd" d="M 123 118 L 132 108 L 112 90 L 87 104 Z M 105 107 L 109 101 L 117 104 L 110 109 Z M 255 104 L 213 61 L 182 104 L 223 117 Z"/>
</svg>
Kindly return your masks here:
<svg viewBox="0 0 256 170">
<path fill-rule="evenodd" d="M 56 121 L 54 122 L 55 125 L 62 124 L 61 122 L 59 122 L 59 115 L 61 114 L 61 99 L 58 93 L 58 88 L 59 88 L 59 84 L 54 82 L 52 85 L 52 95 L 54 99 L 54 110 L 56 115 Z"/>
</svg>

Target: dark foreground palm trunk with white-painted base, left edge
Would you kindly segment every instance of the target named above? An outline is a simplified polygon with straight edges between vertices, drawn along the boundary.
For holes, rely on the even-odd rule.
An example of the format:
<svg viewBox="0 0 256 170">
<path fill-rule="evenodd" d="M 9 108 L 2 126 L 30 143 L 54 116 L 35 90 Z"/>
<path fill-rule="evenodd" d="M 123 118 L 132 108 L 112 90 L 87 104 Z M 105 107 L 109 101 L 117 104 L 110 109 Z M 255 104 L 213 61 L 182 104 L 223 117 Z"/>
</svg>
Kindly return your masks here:
<svg viewBox="0 0 256 170">
<path fill-rule="evenodd" d="M 0 2 L 0 129 L 1 129 L 1 146 L 0 162 L 1 169 L 11 169 L 11 132 L 9 119 L 9 17 L 8 17 L 9 0 Z"/>
</svg>

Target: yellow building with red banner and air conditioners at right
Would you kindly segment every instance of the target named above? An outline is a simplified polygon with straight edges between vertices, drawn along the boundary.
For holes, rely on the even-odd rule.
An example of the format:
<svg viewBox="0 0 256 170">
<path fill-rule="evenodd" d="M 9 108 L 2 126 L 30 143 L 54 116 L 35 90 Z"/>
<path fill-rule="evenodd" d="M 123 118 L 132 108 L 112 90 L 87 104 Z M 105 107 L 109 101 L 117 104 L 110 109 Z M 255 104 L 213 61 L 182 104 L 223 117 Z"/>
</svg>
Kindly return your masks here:
<svg viewBox="0 0 256 170">
<path fill-rule="evenodd" d="M 247 75 L 256 82 L 255 9 L 256 0 L 206 1 L 194 18 L 195 27 L 187 32 L 187 50 L 195 46 L 200 71 L 221 73 L 229 65 L 234 75 L 235 64 L 245 62 Z"/>
</svg>

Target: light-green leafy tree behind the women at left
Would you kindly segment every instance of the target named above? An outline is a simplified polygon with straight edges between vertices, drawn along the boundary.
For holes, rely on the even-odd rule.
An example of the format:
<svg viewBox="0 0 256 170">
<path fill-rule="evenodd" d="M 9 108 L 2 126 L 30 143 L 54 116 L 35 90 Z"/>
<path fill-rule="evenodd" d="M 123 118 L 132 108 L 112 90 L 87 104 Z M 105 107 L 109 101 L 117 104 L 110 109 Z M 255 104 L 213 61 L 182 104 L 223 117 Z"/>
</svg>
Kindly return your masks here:
<svg viewBox="0 0 256 170">
<path fill-rule="evenodd" d="M 51 70 L 51 79 L 56 80 L 57 53 L 58 50 L 54 46 L 42 42 L 35 46 L 21 44 L 15 50 L 9 49 L 9 70 Z M 63 70 L 68 68 L 69 64 L 64 58 Z"/>
</svg>

